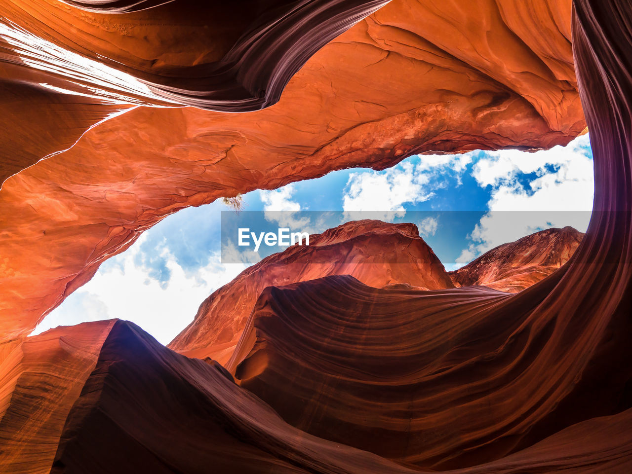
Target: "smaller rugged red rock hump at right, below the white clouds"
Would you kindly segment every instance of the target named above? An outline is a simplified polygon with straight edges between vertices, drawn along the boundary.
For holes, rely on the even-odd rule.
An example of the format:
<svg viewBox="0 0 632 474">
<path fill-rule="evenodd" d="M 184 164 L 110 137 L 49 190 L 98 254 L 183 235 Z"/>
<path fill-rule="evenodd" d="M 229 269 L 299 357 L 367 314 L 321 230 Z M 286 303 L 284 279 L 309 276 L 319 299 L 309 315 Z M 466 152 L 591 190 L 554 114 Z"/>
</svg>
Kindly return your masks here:
<svg viewBox="0 0 632 474">
<path fill-rule="evenodd" d="M 566 263 L 583 235 L 573 227 L 542 230 L 495 247 L 449 275 L 458 287 L 483 285 L 517 293 Z"/>
</svg>

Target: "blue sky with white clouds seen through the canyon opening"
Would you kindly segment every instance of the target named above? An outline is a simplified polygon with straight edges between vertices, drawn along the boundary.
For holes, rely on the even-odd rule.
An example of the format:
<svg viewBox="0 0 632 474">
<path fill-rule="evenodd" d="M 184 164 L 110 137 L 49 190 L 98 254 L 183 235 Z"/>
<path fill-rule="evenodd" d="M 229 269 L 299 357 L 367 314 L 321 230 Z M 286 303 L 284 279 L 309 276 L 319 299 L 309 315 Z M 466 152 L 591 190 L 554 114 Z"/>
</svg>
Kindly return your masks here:
<svg viewBox="0 0 632 474">
<path fill-rule="evenodd" d="M 303 211 L 339 211 L 346 220 L 415 222 L 447 270 L 542 228 L 573 225 L 584 231 L 592 199 L 587 135 L 535 153 L 415 155 L 380 172 L 341 170 L 243 196 L 246 211 L 268 211 L 262 215 L 275 225 L 279 216 L 300 221 Z M 118 317 L 168 343 L 210 293 L 247 266 L 221 261 L 221 213 L 228 210 L 218 200 L 168 216 L 102 264 L 35 333 Z"/>
</svg>

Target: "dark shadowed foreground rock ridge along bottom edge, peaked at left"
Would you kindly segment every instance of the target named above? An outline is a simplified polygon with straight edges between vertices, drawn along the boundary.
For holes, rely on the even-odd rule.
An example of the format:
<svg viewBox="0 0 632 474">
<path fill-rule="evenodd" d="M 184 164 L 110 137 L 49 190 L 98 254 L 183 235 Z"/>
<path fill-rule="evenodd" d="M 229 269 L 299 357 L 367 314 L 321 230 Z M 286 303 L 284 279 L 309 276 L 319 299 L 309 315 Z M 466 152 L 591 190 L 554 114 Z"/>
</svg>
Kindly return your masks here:
<svg viewBox="0 0 632 474">
<path fill-rule="evenodd" d="M 89 333 L 95 324 L 102 323 L 82 326 Z M 96 363 L 85 363 L 94 370 L 58 425 L 59 446 L 47 447 L 52 470 L 6 472 L 428 472 L 301 432 L 234 384 L 221 366 L 172 352 L 131 323 L 107 325 L 106 338 L 94 340 Z M 446 472 L 625 474 L 632 465 L 631 421 L 632 410 L 592 418 L 497 461 Z"/>
</svg>

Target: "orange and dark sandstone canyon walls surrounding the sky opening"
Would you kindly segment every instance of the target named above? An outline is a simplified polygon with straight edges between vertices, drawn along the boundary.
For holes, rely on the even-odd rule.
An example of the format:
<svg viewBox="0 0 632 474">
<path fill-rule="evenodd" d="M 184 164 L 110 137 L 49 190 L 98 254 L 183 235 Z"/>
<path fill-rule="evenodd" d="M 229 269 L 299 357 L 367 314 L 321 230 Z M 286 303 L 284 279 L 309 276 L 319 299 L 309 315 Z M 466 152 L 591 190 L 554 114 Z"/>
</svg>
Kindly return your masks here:
<svg viewBox="0 0 632 474">
<path fill-rule="evenodd" d="M 629 0 L 0 5 L 1 472 L 632 472 Z M 185 208 L 586 133 L 585 233 L 448 271 L 414 223 L 353 220 L 167 345 L 31 335 Z"/>
</svg>

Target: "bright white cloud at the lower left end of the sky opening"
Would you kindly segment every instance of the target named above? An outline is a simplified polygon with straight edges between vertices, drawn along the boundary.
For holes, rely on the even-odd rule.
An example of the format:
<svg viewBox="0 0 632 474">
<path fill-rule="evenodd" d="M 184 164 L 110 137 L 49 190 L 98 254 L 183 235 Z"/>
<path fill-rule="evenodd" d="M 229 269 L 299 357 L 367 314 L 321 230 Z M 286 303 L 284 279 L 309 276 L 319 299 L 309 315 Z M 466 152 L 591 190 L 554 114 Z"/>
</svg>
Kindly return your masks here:
<svg viewBox="0 0 632 474">
<path fill-rule="evenodd" d="M 118 265 L 99 270 L 92 280 L 66 298 L 33 334 L 59 324 L 119 318 L 133 321 L 166 344 L 193 320 L 198 306 L 210 293 L 246 268 L 246 264 L 221 264 L 219 254 L 213 254 L 207 266 L 186 273 L 169 254 L 167 268 L 171 278 L 168 287 L 161 287 L 159 281 L 149 276 L 149 269 L 134 263 L 143 237 L 128 251 L 114 257 Z"/>
</svg>

